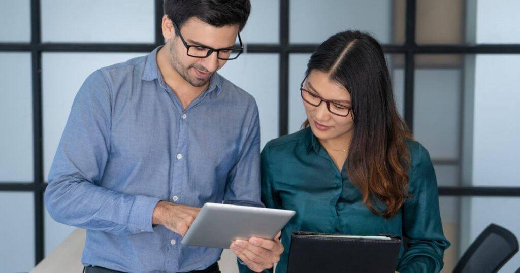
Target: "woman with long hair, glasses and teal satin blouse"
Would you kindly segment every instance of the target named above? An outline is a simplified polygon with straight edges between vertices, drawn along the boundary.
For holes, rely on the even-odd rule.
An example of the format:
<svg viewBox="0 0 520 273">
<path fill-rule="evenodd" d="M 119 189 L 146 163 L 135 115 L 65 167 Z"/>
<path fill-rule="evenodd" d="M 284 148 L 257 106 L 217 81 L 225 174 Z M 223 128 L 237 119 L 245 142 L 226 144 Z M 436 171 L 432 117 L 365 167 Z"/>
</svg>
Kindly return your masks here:
<svg viewBox="0 0 520 273">
<path fill-rule="evenodd" d="M 398 272 L 438 272 L 443 235 L 430 155 L 397 113 L 383 50 L 366 33 L 337 33 L 310 57 L 301 85 L 307 121 L 262 151 L 262 202 L 295 210 L 282 230 L 287 270 L 296 230 L 401 235 Z"/>
</svg>

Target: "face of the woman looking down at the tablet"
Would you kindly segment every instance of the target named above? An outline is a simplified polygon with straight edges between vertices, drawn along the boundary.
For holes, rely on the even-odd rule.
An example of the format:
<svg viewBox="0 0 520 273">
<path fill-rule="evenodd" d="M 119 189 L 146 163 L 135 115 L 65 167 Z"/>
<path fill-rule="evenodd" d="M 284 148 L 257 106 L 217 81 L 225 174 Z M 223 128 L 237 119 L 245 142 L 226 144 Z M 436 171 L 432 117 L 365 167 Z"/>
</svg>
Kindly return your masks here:
<svg viewBox="0 0 520 273">
<path fill-rule="evenodd" d="M 333 111 L 344 111 L 341 106 L 351 107 L 350 94 L 348 90 L 329 79 L 329 73 L 319 70 L 312 70 L 303 83 L 303 88 L 331 102 L 330 108 Z M 354 119 L 352 111 L 347 116 L 339 116 L 331 113 L 327 109 L 327 103 L 321 101 L 319 106 L 313 106 L 303 100 L 307 120 L 314 135 L 322 140 L 332 140 L 342 138 L 348 134 L 352 134 L 354 130 Z M 335 110 L 336 109 L 336 110 Z"/>
</svg>

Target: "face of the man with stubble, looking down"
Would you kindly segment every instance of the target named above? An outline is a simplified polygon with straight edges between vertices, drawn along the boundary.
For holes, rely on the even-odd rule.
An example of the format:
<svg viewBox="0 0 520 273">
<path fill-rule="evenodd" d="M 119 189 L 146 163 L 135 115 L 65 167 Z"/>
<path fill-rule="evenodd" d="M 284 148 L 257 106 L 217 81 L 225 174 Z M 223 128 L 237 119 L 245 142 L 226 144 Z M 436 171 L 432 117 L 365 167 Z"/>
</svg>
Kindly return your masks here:
<svg viewBox="0 0 520 273">
<path fill-rule="evenodd" d="M 211 75 L 222 68 L 227 60 L 218 59 L 216 52 L 206 58 L 188 56 L 186 54 L 187 48 L 180 40 L 180 37 L 175 34 L 173 24 L 169 19 L 166 21 L 166 26 L 170 31 L 168 29 L 164 31 L 163 22 L 163 34 L 168 39 L 166 47 L 170 51 L 170 62 L 173 69 L 191 85 L 196 87 L 204 86 L 210 81 Z M 200 45 L 219 49 L 235 45 L 238 29 L 238 24 L 217 28 L 192 17 L 180 27 L 180 33 L 188 45 Z"/>
</svg>

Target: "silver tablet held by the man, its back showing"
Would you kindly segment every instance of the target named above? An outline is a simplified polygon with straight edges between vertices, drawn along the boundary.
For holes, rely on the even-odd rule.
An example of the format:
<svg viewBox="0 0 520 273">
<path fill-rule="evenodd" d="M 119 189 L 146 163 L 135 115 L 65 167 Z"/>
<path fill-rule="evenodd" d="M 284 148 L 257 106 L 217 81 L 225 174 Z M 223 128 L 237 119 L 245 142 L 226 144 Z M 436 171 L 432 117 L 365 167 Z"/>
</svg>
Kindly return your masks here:
<svg viewBox="0 0 520 273">
<path fill-rule="evenodd" d="M 294 214 L 289 210 L 206 203 L 181 243 L 228 249 L 236 239 L 274 239 Z"/>
</svg>

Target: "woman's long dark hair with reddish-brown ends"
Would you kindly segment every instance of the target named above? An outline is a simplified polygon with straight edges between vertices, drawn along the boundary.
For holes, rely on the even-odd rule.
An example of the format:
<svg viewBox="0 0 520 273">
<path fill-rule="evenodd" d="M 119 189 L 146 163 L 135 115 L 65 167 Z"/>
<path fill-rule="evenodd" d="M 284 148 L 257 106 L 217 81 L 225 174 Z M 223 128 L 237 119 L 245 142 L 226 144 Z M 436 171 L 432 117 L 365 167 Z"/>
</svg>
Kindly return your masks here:
<svg viewBox="0 0 520 273">
<path fill-rule="evenodd" d="M 354 133 L 345 164 L 363 203 L 375 214 L 396 215 L 409 198 L 406 140 L 412 135 L 397 113 L 381 45 L 367 33 L 337 33 L 310 57 L 306 75 L 313 70 L 329 73 L 350 93 Z M 386 209 L 376 209 L 372 198 Z"/>
</svg>

